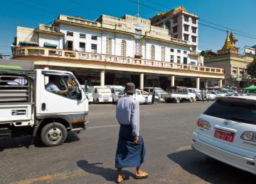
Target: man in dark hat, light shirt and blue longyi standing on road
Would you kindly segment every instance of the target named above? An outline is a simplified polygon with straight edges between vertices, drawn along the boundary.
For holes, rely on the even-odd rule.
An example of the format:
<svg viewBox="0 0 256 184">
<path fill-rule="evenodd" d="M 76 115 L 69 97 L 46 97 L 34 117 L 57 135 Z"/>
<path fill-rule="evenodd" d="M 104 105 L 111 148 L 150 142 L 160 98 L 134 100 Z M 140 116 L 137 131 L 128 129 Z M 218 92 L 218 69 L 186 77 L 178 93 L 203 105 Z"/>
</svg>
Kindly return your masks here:
<svg viewBox="0 0 256 184">
<path fill-rule="evenodd" d="M 122 168 L 136 167 L 134 178 L 147 178 L 148 173 L 142 171 L 146 149 L 142 136 L 139 134 L 139 102 L 134 99 L 135 85 L 127 83 L 124 88 L 126 96 L 117 102 L 116 118 L 120 124 L 115 168 L 117 183 L 122 183 L 125 176 Z"/>
</svg>

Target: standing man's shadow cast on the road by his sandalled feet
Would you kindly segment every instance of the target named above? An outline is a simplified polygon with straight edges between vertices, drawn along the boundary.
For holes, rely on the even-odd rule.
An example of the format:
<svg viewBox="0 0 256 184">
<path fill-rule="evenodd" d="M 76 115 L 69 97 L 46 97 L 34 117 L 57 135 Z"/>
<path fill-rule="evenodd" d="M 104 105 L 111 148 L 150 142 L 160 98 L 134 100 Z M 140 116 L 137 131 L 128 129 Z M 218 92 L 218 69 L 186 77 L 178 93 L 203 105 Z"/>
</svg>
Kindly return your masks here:
<svg viewBox="0 0 256 184">
<path fill-rule="evenodd" d="M 112 168 L 104 168 L 102 166 L 103 163 L 89 163 L 85 160 L 80 160 L 77 162 L 78 167 L 82 168 L 82 170 L 86 171 L 87 173 L 92 173 L 98 176 L 102 176 L 105 180 L 108 181 L 116 181 L 117 180 L 117 170 Z M 130 176 L 134 176 L 133 173 L 129 171 L 122 171 L 126 180 L 129 180 Z"/>
</svg>

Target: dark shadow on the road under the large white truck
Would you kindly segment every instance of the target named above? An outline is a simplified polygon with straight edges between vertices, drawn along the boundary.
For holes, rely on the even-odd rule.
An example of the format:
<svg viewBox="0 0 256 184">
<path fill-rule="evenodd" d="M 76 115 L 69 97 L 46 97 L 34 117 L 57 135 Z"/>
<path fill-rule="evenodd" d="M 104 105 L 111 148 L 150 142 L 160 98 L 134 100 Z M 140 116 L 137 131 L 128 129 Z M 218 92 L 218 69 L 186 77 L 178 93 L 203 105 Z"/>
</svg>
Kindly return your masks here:
<svg viewBox="0 0 256 184">
<path fill-rule="evenodd" d="M 73 132 L 68 132 L 68 137 L 66 139 L 65 143 L 71 143 L 71 142 L 78 142 L 80 138 L 77 136 L 77 134 L 74 134 Z M 0 140 L 0 151 L 4 151 L 4 149 L 16 149 L 20 147 L 26 147 L 26 149 L 29 149 L 29 146 L 34 145 L 35 147 L 46 147 L 40 140 L 40 137 L 35 137 L 33 139 L 32 136 L 26 136 L 26 137 L 15 137 L 11 139 L 6 140 Z"/>
</svg>

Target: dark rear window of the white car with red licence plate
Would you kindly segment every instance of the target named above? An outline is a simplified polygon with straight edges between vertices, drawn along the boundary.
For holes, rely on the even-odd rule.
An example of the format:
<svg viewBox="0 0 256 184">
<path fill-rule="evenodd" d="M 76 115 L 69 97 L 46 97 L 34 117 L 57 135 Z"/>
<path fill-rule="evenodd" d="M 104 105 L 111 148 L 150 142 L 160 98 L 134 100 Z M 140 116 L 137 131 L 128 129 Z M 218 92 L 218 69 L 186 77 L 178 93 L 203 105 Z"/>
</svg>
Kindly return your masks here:
<svg viewBox="0 0 256 184">
<path fill-rule="evenodd" d="M 243 100 L 217 100 L 203 114 L 256 125 L 256 103 Z"/>
</svg>

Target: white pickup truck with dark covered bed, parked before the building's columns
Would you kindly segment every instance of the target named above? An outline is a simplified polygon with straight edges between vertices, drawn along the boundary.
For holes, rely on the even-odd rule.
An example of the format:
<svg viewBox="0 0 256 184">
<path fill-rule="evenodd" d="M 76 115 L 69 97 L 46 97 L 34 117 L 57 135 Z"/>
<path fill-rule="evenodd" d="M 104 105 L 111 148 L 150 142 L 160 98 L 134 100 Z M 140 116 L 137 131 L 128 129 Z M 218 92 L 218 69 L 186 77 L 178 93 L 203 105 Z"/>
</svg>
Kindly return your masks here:
<svg viewBox="0 0 256 184">
<path fill-rule="evenodd" d="M 171 91 L 165 98 L 167 103 L 180 103 L 184 100 L 187 100 L 190 103 L 194 102 L 196 100 L 196 93 L 193 93 L 189 88 L 176 88 L 176 91 Z"/>
</svg>

